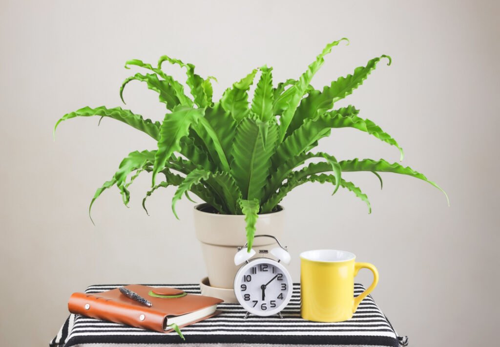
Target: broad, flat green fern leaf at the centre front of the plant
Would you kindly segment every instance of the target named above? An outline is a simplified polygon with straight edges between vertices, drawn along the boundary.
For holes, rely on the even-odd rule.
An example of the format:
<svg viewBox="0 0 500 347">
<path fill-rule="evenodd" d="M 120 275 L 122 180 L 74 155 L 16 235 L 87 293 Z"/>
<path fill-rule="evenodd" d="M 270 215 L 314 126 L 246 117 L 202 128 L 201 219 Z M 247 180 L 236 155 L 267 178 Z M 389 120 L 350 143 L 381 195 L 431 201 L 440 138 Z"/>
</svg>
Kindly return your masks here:
<svg viewBox="0 0 500 347">
<path fill-rule="evenodd" d="M 277 140 L 277 126 L 267 122 L 267 135 L 259 129 L 261 121 L 243 119 L 237 126 L 232 145 L 231 175 L 236 180 L 243 199 L 261 199 L 266 178 L 269 174 L 269 158 L 274 153 Z M 264 148 L 264 143 L 267 146 Z"/>
</svg>

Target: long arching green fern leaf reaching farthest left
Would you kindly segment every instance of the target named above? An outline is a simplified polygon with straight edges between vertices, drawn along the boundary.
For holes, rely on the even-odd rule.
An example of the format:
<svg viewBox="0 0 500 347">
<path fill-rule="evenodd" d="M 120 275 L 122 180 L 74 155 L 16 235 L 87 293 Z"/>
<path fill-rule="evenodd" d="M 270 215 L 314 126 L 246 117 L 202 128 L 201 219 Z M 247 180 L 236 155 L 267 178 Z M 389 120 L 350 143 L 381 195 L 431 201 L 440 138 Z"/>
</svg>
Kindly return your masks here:
<svg viewBox="0 0 500 347">
<path fill-rule="evenodd" d="M 75 117 L 91 117 L 91 116 L 100 116 L 100 117 L 109 117 L 112 119 L 116 119 L 120 122 L 128 124 L 132 128 L 140 130 L 147 135 L 151 136 L 153 139 L 157 140 L 159 138 L 159 122 L 152 122 L 150 119 L 143 119 L 141 115 L 133 114 L 129 110 L 123 110 L 121 107 L 115 107 L 112 109 L 108 109 L 104 106 L 96 107 L 94 109 L 86 106 L 74 112 L 70 112 L 62 116 L 54 126 L 54 138 L 55 138 L 55 130 L 60 122 L 65 121 L 67 119 L 75 118 Z"/>
</svg>

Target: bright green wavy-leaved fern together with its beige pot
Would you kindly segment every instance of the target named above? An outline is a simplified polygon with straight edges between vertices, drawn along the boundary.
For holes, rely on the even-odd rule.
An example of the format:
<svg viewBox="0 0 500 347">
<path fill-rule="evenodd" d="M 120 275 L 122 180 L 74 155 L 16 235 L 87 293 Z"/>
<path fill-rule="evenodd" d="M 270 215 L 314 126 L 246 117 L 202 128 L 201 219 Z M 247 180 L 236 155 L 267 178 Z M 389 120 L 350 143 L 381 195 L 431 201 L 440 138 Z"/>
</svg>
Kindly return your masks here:
<svg viewBox="0 0 500 347">
<path fill-rule="evenodd" d="M 393 172 L 421 179 L 440 189 L 421 173 L 398 163 L 383 159 L 338 161 L 331 154 L 313 152 L 318 141 L 329 136 L 332 129 L 350 127 L 395 146 L 401 159 L 403 156 L 398 143 L 372 121 L 360 118 L 356 108 L 333 108 L 335 102 L 363 83 L 381 59 L 387 59 L 390 65 L 390 57 L 371 59 L 366 66 L 338 78 L 322 91 L 310 85 L 324 63 L 324 56 L 341 41 L 347 40 L 328 44 L 298 80 L 274 86 L 272 68 L 262 66 L 227 88 L 218 102 L 212 100 L 211 80 L 215 78 L 196 75 L 192 64 L 167 56 L 162 56 L 156 67 L 140 60 L 126 62 L 125 68 L 136 66 L 145 73 L 137 73 L 123 82 L 119 91 L 121 100 L 129 82 L 145 83 L 165 104 L 167 113 L 162 122 L 144 119 L 120 107 L 101 106 L 68 113 L 55 125 L 56 128 L 60 122 L 74 117 L 108 117 L 144 132 L 157 142 L 155 149 L 128 154 L 112 179 L 97 189 L 90 207 L 105 189 L 114 185 L 124 204 L 128 204 L 127 188 L 143 171 L 152 174 L 152 188 L 146 193 L 143 206 L 154 191 L 167 186 L 177 187 L 172 198 L 174 214 L 175 203 L 182 196 L 190 199 L 188 192 L 197 195 L 205 201 L 195 207 L 194 216 L 209 282 L 214 287 L 231 288 L 236 272 L 231 261 L 234 247 L 242 245 L 246 235 L 250 249 L 255 232 L 281 236 L 283 209 L 279 203 L 301 184 L 328 183 L 333 186 L 333 193 L 339 187 L 345 188 L 366 203 L 368 212 L 367 196 L 343 178 L 344 172 L 369 171 L 379 179 L 379 172 Z M 185 69 L 191 97 L 162 70 L 164 63 Z M 260 74 L 258 83 L 249 101 L 248 90 L 257 74 Z M 319 158 L 320 162 L 302 167 L 312 158 Z M 263 245 L 255 242 L 254 246 Z"/>
</svg>

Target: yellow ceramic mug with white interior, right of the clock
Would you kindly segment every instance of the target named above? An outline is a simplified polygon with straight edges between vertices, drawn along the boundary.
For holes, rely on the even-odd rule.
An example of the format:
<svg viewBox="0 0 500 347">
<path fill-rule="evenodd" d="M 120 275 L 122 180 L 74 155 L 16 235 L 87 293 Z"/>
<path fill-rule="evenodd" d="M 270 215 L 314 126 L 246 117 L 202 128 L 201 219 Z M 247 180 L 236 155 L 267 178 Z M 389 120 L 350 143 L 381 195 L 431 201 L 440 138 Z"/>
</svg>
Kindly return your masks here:
<svg viewBox="0 0 500 347">
<path fill-rule="evenodd" d="M 378 282 L 378 271 L 370 263 L 355 262 L 349 252 L 318 249 L 300 254 L 300 295 L 302 318 L 336 322 L 350 319 L 359 302 Z M 367 268 L 373 272 L 371 285 L 354 297 L 354 277 Z"/>
</svg>

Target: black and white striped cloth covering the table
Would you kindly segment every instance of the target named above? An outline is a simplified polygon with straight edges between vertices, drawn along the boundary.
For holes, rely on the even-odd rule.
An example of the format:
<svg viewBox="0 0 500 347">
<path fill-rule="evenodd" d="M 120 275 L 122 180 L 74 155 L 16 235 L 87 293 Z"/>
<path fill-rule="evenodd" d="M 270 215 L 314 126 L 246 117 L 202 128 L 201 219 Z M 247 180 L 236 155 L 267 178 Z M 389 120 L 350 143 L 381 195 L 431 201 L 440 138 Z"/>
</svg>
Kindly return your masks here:
<svg viewBox="0 0 500 347">
<path fill-rule="evenodd" d="M 148 284 L 150 285 L 150 284 Z M 92 285 L 86 293 L 98 293 L 120 285 Z M 161 284 L 157 287 L 174 287 L 190 294 L 199 294 L 198 284 Z M 354 295 L 364 290 L 354 285 Z M 375 301 L 368 295 L 361 301 L 352 319 L 339 323 L 318 323 L 300 317 L 300 285 L 293 285 L 289 304 L 278 316 L 243 319 L 245 310 L 234 303 L 220 303 L 219 315 L 183 327 L 182 341 L 175 332 L 160 333 L 104 320 L 70 314 L 57 336 L 50 341 L 51 347 L 87 346 L 99 347 L 126 345 L 127 347 L 151 344 L 183 346 L 395 346 L 407 345 L 407 338 L 397 336 Z"/>
</svg>

